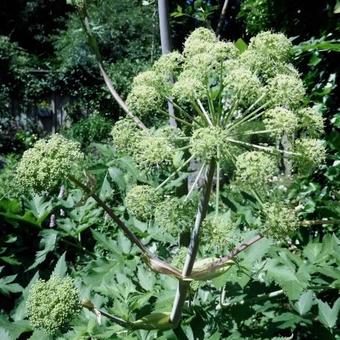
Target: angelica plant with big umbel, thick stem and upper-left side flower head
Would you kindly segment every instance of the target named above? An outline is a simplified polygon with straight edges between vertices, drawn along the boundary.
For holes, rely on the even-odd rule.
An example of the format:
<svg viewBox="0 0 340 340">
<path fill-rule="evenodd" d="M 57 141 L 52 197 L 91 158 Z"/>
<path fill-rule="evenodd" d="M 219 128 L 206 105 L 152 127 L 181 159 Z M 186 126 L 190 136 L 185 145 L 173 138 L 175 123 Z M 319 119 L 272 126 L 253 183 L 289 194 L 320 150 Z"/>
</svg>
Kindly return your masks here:
<svg viewBox="0 0 340 340">
<path fill-rule="evenodd" d="M 112 143 L 117 154 L 135 161 L 147 184 L 129 188 L 123 199 L 128 214 L 150 228 L 156 225 L 180 243 L 183 234 L 190 234 L 181 248 L 184 261 L 173 261 L 184 263 L 180 268 L 160 259 L 93 188 L 72 176 L 70 163 L 81 158 L 74 143 L 53 136 L 24 154 L 18 170 L 23 186 L 48 190 L 67 177 L 92 195 L 151 270 L 178 280 L 171 311 L 119 324 L 132 329 L 177 327 L 193 281 L 221 275 L 262 237 L 284 242 L 301 225 L 296 202 L 285 192 L 294 178 L 322 164 L 326 150 L 319 139 L 322 117 L 309 107 L 299 73 L 289 64 L 291 49 L 283 34 L 263 32 L 240 53 L 232 43 L 199 28 L 187 38 L 183 53 L 162 56 L 135 78 L 127 98 L 128 117 L 114 125 Z M 176 128 L 167 126 L 169 102 Z M 56 142 L 63 145 L 56 148 Z M 192 161 L 199 169 L 187 187 Z M 257 225 L 240 222 L 222 202 L 224 190 L 253 197 Z M 255 236 L 244 239 L 245 229 L 254 229 Z"/>
</svg>

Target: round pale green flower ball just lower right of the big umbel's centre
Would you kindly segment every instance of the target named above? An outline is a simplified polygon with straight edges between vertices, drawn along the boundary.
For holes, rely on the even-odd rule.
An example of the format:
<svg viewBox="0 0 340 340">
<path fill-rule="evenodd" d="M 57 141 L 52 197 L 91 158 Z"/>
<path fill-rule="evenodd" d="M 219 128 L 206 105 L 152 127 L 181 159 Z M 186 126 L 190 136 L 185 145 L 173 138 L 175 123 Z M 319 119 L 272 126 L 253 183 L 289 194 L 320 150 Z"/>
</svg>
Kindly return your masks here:
<svg viewBox="0 0 340 340">
<path fill-rule="evenodd" d="M 236 159 L 235 183 L 246 189 L 264 189 L 277 174 L 276 159 L 262 151 L 248 151 Z"/>
</svg>

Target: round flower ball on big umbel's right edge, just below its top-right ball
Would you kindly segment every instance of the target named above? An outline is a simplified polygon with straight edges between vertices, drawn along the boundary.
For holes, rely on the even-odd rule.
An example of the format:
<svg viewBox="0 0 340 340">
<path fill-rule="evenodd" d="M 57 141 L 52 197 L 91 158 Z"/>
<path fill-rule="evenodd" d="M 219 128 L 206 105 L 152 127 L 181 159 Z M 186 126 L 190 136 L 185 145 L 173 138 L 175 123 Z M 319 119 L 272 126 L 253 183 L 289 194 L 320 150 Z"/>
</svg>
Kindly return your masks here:
<svg viewBox="0 0 340 340">
<path fill-rule="evenodd" d="M 268 100 L 275 106 L 299 107 L 305 94 L 302 80 L 298 77 L 279 74 L 269 81 Z"/>
</svg>

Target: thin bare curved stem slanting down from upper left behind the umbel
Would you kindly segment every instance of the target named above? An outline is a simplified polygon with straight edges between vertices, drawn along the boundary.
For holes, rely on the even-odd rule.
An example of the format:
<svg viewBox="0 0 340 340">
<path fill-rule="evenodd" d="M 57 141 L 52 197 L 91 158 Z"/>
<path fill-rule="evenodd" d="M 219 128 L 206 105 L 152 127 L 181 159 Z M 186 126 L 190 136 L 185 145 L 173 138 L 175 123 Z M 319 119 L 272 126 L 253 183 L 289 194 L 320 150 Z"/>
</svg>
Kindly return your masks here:
<svg viewBox="0 0 340 340">
<path fill-rule="evenodd" d="M 86 7 L 79 10 L 79 14 L 80 14 L 80 21 L 83 25 L 84 31 L 85 31 L 87 38 L 88 38 L 88 44 L 89 44 L 90 48 L 92 49 L 92 51 L 94 52 L 94 55 L 96 57 L 96 61 L 97 61 L 97 64 L 98 64 L 98 67 L 99 67 L 99 70 L 100 70 L 100 74 L 102 75 L 102 77 L 104 79 L 106 87 L 110 91 L 112 97 L 117 102 L 117 104 L 123 109 L 123 111 L 128 116 L 130 116 L 133 119 L 133 121 L 136 123 L 136 125 L 138 125 L 141 129 L 146 130 L 147 128 L 143 124 L 143 122 L 129 110 L 129 108 L 126 105 L 126 103 L 124 102 L 124 100 L 120 97 L 118 92 L 115 90 L 110 77 L 108 76 L 108 74 L 105 71 L 104 65 L 102 63 L 102 57 L 101 57 L 101 54 L 100 54 L 100 51 L 99 51 L 99 47 L 98 47 L 96 37 L 94 36 L 94 34 L 92 33 L 92 30 L 91 30 L 90 19 L 89 19 Z"/>
</svg>

